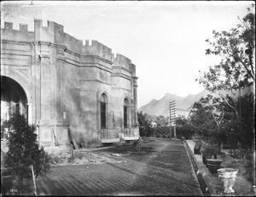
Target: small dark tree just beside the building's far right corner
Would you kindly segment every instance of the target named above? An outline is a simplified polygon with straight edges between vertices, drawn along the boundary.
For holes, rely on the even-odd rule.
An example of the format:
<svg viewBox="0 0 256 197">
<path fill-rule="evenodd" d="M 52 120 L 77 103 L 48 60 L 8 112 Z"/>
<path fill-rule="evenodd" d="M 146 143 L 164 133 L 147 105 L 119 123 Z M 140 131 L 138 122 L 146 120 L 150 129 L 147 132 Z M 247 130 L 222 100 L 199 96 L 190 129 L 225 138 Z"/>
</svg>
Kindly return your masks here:
<svg viewBox="0 0 256 197">
<path fill-rule="evenodd" d="M 137 113 L 137 121 L 139 122 L 140 136 L 151 136 L 153 134 L 153 129 L 151 121 L 148 120 L 147 114 L 143 114 L 142 111 Z"/>
</svg>

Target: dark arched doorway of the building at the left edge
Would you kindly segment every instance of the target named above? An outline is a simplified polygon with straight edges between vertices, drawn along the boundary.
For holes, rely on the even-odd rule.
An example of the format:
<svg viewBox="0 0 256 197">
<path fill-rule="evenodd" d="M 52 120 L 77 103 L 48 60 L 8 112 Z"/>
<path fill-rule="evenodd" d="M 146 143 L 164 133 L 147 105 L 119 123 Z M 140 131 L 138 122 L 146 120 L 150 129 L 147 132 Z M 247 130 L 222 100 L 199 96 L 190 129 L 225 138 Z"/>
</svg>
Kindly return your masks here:
<svg viewBox="0 0 256 197">
<path fill-rule="evenodd" d="M 7 137 L 3 121 L 8 121 L 15 113 L 27 119 L 26 104 L 26 93 L 20 84 L 8 76 L 1 76 L 1 138 Z"/>
</svg>

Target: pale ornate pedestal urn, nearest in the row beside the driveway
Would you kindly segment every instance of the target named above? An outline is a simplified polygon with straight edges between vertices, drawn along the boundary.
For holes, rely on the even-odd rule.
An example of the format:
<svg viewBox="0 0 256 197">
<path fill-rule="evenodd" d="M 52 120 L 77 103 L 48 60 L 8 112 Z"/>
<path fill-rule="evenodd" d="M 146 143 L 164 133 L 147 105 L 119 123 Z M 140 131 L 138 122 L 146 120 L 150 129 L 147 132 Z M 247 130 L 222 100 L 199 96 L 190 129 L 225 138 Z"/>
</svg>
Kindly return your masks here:
<svg viewBox="0 0 256 197">
<path fill-rule="evenodd" d="M 218 171 L 218 177 L 220 177 L 224 183 L 224 194 L 234 194 L 235 190 L 233 186 L 236 182 L 237 169 L 234 168 L 220 168 Z"/>
</svg>

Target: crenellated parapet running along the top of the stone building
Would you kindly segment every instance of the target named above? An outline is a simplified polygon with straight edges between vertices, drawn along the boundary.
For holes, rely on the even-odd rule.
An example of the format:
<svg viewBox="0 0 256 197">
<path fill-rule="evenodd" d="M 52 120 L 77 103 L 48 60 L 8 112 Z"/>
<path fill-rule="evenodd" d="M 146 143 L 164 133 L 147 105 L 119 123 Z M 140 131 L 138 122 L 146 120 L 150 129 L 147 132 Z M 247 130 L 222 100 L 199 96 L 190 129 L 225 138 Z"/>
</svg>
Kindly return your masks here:
<svg viewBox="0 0 256 197">
<path fill-rule="evenodd" d="M 85 40 L 83 43 L 83 40 L 72 37 L 64 32 L 64 26 L 54 21 L 34 19 L 33 22 L 29 22 L 29 25 L 33 25 L 33 28 L 29 28 L 31 26 L 28 26 L 27 24 L 15 23 L 17 30 L 14 29 L 14 23 L 4 22 L 4 27 L 1 28 L 2 39 L 61 44 L 74 53 L 80 55 L 96 55 L 102 59 L 107 59 L 108 61 L 113 62 L 116 66 L 132 70 L 131 59 L 128 59 L 119 53 L 117 53 L 115 57 L 112 53 L 112 49 L 101 42 L 97 42 L 96 40 Z M 32 29 L 32 31 L 28 31 L 28 29 Z"/>
</svg>

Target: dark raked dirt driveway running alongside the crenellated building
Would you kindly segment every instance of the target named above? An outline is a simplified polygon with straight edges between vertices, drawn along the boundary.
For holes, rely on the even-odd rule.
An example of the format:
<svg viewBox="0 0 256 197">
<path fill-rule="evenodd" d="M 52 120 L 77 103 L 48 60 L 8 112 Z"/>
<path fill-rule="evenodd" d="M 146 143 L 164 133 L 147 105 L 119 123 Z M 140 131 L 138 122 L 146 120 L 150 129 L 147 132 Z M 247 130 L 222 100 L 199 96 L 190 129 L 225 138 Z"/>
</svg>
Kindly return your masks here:
<svg viewBox="0 0 256 197">
<path fill-rule="evenodd" d="M 126 162 L 53 167 L 38 178 L 38 194 L 201 195 L 182 141 L 159 139 L 141 151 L 119 146 L 100 152 Z"/>
</svg>

